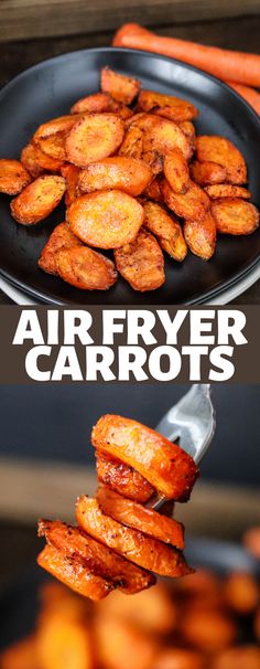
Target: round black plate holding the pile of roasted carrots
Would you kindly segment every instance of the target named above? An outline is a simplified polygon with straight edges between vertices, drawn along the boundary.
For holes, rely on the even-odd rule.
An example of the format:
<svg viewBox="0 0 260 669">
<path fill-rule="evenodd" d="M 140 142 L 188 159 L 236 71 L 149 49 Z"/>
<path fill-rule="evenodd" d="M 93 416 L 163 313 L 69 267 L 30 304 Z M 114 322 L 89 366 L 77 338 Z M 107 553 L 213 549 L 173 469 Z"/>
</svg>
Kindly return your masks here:
<svg viewBox="0 0 260 669">
<path fill-rule="evenodd" d="M 79 97 L 97 91 L 104 65 L 132 74 L 143 87 L 192 100 L 199 109 L 199 134 L 228 137 L 242 151 L 252 201 L 259 205 L 260 121 L 230 88 L 184 63 L 126 49 L 93 49 L 65 54 L 26 70 L 0 92 L 1 157 L 17 158 L 39 124 L 67 114 Z M 0 198 L 0 273 L 13 285 L 51 304 L 198 304 L 245 276 L 258 262 L 260 234 L 219 236 L 212 261 L 188 254 L 183 264 L 166 258 L 166 282 L 154 293 L 136 293 L 121 278 L 104 291 L 80 291 L 37 268 L 37 258 L 63 208 L 30 230 L 10 216 L 9 198 Z"/>
</svg>

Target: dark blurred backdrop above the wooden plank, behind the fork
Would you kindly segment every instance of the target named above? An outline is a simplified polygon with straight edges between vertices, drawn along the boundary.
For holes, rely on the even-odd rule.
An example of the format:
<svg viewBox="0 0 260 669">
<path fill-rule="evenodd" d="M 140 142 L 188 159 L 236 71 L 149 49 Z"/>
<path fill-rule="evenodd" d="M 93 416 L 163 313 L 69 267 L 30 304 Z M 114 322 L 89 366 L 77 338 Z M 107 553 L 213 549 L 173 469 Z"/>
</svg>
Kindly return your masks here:
<svg viewBox="0 0 260 669">
<path fill-rule="evenodd" d="M 0 385 L 0 456 L 94 465 L 91 426 L 119 413 L 155 427 L 187 391 L 170 384 Z M 205 479 L 260 482 L 259 385 L 214 385 L 217 431 L 202 463 Z"/>
</svg>

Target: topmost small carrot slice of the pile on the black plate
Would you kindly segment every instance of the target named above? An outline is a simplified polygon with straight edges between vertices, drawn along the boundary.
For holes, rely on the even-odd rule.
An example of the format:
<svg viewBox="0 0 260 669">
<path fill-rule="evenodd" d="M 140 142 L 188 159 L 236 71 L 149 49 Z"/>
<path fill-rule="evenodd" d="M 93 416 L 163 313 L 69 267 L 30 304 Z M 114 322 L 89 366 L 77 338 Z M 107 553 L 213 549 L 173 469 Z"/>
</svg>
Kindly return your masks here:
<svg viewBox="0 0 260 669">
<path fill-rule="evenodd" d="M 102 67 L 100 86 L 102 93 L 109 93 L 118 103 L 130 105 L 138 95 L 141 84 L 138 79 L 113 72 L 109 67 Z"/>
</svg>

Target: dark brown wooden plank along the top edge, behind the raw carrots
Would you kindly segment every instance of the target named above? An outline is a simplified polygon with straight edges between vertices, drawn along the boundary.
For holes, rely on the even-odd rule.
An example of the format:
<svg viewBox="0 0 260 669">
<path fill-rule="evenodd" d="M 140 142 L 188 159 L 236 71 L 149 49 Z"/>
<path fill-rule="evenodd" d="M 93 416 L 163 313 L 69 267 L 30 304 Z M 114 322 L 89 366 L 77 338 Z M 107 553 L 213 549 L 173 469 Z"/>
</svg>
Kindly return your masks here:
<svg viewBox="0 0 260 669">
<path fill-rule="evenodd" d="M 252 14 L 259 0 L 0 0 L 0 42 Z"/>
</svg>

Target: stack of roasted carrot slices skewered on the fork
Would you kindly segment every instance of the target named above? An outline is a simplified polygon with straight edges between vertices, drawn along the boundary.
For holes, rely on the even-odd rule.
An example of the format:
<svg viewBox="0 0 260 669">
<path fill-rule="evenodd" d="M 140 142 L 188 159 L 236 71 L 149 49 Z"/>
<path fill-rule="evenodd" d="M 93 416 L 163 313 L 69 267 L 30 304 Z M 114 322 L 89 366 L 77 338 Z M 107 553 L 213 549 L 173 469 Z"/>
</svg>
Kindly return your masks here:
<svg viewBox="0 0 260 669">
<path fill-rule="evenodd" d="M 182 553 L 183 525 L 143 506 L 155 492 L 187 500 L 198 476 L 193 458 L 153 429 L 116 415 L 98 421 L 91 440 L 102 486 L 95 498 L 78 498 L 76 527 L 39 522 L 47 543 L 39 564 L 90 599 L 112 590 L 143 591 L 154 585 L 153 572 L 193 573 Z"/>
</svg>

